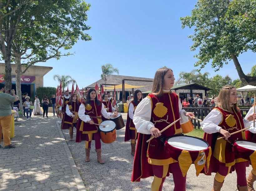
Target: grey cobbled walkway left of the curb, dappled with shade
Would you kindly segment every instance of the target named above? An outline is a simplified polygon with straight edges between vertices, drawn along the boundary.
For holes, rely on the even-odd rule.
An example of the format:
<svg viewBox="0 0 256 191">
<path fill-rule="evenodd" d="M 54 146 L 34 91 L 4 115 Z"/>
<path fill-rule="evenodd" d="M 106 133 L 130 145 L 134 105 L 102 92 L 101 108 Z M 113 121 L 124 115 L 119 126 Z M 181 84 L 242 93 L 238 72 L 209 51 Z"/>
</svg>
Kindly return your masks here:
<svg viewBox="0 0 256 191">
<path fill-rule="evenodd" d="M 57 121 L 53 114 L 19 119 L 16 148 L 0 149 L 0 191 L 86 190 Z"/>
</svg>

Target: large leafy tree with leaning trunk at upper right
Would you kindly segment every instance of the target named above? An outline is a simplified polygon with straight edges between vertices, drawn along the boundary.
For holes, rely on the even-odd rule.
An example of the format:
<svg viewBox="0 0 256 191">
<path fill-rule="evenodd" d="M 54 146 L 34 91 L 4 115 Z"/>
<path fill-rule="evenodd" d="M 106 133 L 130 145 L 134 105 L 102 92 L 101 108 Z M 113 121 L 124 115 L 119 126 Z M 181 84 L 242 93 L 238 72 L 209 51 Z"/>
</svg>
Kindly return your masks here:
<svg viewBox="0 0 256 191">
<path fill-rule="evenodd" d="M 192 51 L 198 50 L 194 64 L 203 68 L 212 61 L 215 71 L 234 62 L 239 78 L 256 85 L 256 77 L 244 74 L 238 55 L 256 51 L 256 0 L 198 0 L 191 16 L 181 17 L 182 28 L 194 29 Z"/>
</svg>

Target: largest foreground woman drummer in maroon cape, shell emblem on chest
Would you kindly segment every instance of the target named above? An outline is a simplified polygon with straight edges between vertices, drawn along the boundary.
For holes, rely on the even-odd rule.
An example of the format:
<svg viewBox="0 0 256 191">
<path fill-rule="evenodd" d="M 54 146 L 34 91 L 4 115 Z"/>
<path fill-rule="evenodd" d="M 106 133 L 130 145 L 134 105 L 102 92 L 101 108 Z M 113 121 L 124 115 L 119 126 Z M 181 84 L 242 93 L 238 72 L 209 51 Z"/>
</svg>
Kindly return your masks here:
<svg viewBox="0 0 256 191">
<path fill-rule="evenodd" d="M 182 133 L 180 123 L 188 122 L 191 112 L 182 109 L 178 95 L 170 92 L 174 84 L 173 71 L 170 68 L 159 68 L 153 80 L 152 93 L 137 106 L 133 123 L 138 132 L 138 141 L 133 161 L 132 181 L 154 176 L 151 190 L 162 190 L 163 182 L 169 173 L 173 173 L 174 191 L 186 190 L 186 176 L 183 177 L 178 161 L 163 152 L 162 141 L 157 138 L 160 130 L 175 120 L 180 121 L 163 131 L 163 137 Z M 150 136 L 155 137 L 149 143 Z M 151 152 L 154 151 L 154 152 Z"/>
</svg>

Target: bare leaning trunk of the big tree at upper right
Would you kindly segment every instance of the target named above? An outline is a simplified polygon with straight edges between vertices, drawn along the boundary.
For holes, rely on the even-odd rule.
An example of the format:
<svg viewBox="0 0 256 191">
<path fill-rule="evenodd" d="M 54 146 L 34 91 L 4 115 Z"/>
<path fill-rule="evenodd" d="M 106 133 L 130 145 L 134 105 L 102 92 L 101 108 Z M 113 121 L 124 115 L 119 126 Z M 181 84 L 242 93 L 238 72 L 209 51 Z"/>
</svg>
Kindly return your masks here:
<svg viewBox="0 0 256 191">
<path fill-rule="evenodd" d="M 234 53 L 231 53 L 231 57 L 233 59 L 233 62 L 235 64 L 238 76 L 240 78 L 240 80 L 244 83 L 244 84 L 248 84 L 248 85 L 252 85 L 252 86 L 256 86 L 256 77 L 253 76 L 247 76 L 243 73 L 243 70 L 241 68 L 241 65 L 237 59 L 237 56 L 235 56 Z"/>
</svg>

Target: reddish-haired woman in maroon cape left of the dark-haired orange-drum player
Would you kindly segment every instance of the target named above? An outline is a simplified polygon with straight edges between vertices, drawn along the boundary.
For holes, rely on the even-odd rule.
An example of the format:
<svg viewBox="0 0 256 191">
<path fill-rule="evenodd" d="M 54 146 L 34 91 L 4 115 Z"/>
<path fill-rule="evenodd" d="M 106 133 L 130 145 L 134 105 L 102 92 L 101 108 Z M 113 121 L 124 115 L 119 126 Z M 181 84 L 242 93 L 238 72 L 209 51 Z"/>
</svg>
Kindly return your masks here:
<svg viewBox="0 0 256 191">
<path fill-rule="evenodd" d="M 77 100 L 77 95 L 72 94 L 66 104 L 66 111 L 62 119 L 62 129 L 69 129 L 70 141 L 73 141 L 73 127 L 77 124 L 78 109 L 81 103 Z"/>
</svg>

